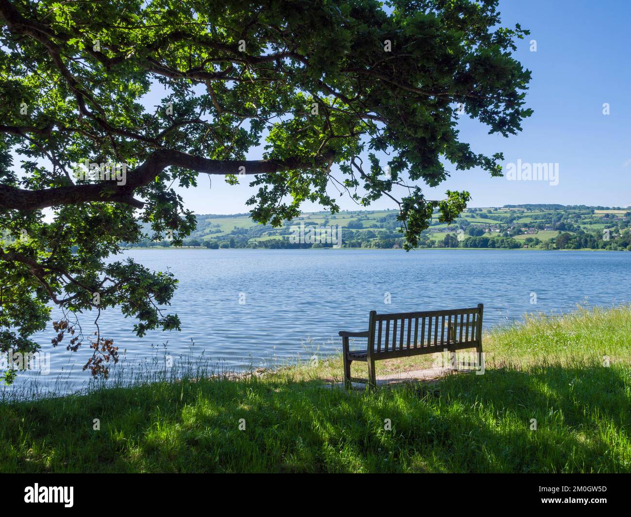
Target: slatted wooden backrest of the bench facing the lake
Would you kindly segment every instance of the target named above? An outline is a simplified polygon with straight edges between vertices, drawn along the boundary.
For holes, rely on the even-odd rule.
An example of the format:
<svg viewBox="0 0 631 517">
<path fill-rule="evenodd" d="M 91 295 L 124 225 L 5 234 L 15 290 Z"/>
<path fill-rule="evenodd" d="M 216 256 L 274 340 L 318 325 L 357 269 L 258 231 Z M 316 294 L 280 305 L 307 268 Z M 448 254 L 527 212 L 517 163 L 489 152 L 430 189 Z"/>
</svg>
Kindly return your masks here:
<svg viewBox="0 0 631 517">
<path fill-rule="evenodd" d="M 447 350 L 480 347 L 482 312 L 472 309 L 398 312 L 370 311 L 368 353 L 370 355 L 433 354 Z"/>
</svg>

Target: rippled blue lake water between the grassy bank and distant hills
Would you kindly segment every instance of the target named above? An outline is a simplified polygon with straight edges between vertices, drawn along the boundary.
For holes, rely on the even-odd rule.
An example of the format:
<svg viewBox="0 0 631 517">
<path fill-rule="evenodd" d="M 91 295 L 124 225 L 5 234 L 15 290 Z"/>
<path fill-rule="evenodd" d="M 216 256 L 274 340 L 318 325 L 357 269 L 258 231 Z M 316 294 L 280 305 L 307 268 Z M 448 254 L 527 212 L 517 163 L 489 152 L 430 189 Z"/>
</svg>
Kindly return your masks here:
<svg viewBox="0 0 631 517">
<path fill-rule="evenodd" d="M 179 288 L 170 311 L 181 332 L 133 333 L 134 321 L 103 312 L 101 335 L 114 338 L 124 364 L 168 354 L 221 361 L 229 369 L 309 360 L 339 352 L 339 330 L 367 329 L 369 311 L 399 312 L 485 306 L 484 327 L 519 321 L 525 312 L 564 312 L 577 304 L 631 301 L 631 253 L 591 251 L 139 249 L 127 251 L 152 270 L 170 270 Z M 54 318 L 59 312 L 54 311 Z M 94 316 L 81 316 L 84 332 Z M 50 345 L 52 326 L 36 336 L 50 354 L 50 373 L 22 372 L 15 388 L 34 378 L 60 377 L 80 387 L 88 345 L 79 352 Z M 163 345 L 166 343 L 166 348 Z M 64 344 L 62 342 L 62 344 Z M 58 384 L 58 383 L 57 383 Z M 51 388 L 52 389 L 52 388 Z M 59 389 L 57 386 L 56 389 Z"/>
</svg>

